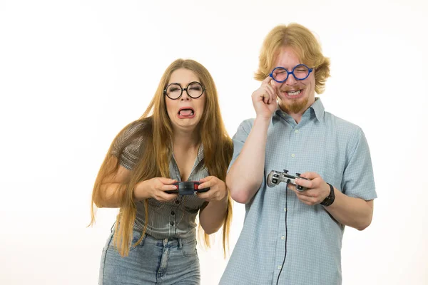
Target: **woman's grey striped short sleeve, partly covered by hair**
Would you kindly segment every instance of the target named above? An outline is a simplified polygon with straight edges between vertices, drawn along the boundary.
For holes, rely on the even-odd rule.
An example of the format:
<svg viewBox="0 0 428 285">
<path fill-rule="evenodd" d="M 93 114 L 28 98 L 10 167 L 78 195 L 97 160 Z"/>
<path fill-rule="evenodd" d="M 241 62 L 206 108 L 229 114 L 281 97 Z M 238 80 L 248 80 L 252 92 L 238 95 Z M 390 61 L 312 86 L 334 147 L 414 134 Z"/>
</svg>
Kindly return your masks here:
<svg viewBox="0 0 428 285">
<path fill-rule="evenodd" d="M 131 123 L 113 142 L 111 154 L 118 157 L 119 163 L 128 170 L 133 170 L 141 157 L 143 137 L 138 135 L 141 127 L 141 123 Z M 122 148 L 123 152 L 119 157 Z"/>
</svg>

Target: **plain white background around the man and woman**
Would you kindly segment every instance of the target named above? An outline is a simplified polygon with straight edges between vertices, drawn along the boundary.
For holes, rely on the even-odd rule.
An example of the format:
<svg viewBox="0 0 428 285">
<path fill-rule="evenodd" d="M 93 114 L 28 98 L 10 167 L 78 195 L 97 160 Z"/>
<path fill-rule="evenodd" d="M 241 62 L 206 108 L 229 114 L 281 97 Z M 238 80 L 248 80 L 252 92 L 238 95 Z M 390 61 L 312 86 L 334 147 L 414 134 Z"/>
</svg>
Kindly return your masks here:
<svg viewBox="0 0 428 285">
<path fill-rule="evenodd" d="M 0 284 L 96 284 L 116 209 L 86 225 L 116 133 L 173 60 L 193 58 L 233 135 L 255 115 L 263 38 L 290 22 L 320 38 L 332 61 L 322 102 L 372 153 L 379 198 L 369 228 L 345 230 L 343 284 L 428 284 L 427 14 L 422 0 L 0 1 Z M 202 284 L 218 284 L 220 242 L 199 256 Z"/>
</svg>

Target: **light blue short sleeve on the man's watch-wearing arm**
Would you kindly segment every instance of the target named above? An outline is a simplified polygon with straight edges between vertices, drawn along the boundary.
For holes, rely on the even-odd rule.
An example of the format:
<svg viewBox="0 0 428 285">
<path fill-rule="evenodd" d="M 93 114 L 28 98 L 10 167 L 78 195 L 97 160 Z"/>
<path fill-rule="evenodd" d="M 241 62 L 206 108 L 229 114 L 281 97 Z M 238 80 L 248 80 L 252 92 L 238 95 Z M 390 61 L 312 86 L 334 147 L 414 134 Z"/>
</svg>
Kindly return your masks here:
<svg viewBox="0 0 428 285">
<path fill-rule="evenodd" d="M 369 145 L 360 128 L 351 145 L 353 147 L 348 150 L 348 161 L 343 172 L 342 192 L 366 201 L 377 198 Z"/>
</svg>

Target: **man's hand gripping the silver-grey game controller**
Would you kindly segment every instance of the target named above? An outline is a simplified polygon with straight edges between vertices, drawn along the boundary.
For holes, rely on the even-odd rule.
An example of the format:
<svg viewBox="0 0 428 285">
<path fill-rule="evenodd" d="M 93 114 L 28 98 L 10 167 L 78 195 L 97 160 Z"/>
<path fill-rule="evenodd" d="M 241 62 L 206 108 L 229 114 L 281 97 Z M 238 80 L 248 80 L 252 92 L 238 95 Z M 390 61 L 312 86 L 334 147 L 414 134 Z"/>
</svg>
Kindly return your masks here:
<svg viewBox="0 0 428 285">
<path fill-rule="evenodd" d="M 330 186 L 317 173 L 305 172 L 300 177 L 307 178 L 308 180 L 297 178 L 295 179 L 295 183 L 306 187 L 307 190 L 298 191 L 296 190 L 296 186 L 292 184 L 288 185 L 288 189 L 294 191 L 297 198 L 303 203 L 308 205 L 320 204 L 324 201 L 325 197 L 330 195 Z"/>
</svg>

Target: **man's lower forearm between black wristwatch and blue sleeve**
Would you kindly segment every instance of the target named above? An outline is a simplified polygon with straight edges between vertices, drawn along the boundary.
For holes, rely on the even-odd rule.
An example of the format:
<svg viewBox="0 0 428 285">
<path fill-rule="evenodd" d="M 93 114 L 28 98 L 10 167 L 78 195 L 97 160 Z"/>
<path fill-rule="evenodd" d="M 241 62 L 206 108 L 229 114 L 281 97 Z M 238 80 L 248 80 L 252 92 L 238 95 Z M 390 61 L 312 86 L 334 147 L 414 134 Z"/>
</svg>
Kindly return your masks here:
<svg viewBox="0 0 428 285">
<path fill-rule="evenodd" d="M 335 202 L 325 209 L 337 222 L 361 231 L 372 222 L 373 200 L 349 197 L 335 189 Z"/>
</svg>

